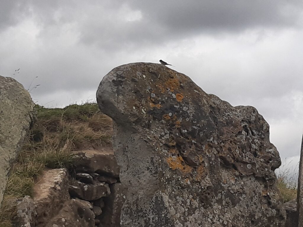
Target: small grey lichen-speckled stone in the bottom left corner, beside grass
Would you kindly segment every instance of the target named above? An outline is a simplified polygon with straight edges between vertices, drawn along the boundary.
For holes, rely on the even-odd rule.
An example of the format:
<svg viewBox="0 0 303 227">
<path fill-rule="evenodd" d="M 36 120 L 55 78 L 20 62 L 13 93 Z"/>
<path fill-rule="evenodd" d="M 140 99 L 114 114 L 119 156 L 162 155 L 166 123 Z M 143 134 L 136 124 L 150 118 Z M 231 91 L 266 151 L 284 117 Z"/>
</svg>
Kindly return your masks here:
<svg viewBox="0 0 303 227">
<path fill-rule="evenodd" d="M 15 227 L 34 227 L 36 209 L 33 200 L 29 196 L 17 201 L 17 212 L 13 220 Z"/>
</svg>

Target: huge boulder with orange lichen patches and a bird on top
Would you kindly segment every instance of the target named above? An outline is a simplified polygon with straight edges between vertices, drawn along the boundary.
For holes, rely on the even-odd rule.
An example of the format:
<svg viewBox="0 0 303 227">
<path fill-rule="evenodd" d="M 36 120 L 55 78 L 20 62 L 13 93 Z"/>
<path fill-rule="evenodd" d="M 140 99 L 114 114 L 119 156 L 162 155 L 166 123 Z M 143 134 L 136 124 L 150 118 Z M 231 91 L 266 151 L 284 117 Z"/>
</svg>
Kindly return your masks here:
<svg viewBox="0 0 303 227">
<path fill-rule="evenodd" d="M 116 67 L 97 102 L 114 121 L 122 226 L 283 226 L 269 126 L 161 64 Z"/>
</svg>

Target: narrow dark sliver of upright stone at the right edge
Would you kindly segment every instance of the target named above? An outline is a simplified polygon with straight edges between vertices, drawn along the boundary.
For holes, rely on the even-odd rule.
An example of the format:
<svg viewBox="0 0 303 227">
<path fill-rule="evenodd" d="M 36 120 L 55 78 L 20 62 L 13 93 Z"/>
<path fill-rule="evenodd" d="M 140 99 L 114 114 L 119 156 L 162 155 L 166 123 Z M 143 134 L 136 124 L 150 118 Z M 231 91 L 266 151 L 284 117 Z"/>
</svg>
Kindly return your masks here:
<svg viewBox="0 0 303 227">
<path fill-rule="evenodd" d="M 303 135 L 302 135 L 300 163 L 299 163 L 297 209 L 298 209 L 298 222 L 299 222 L 298 226 L 303 227 Z"/>
</svg>

